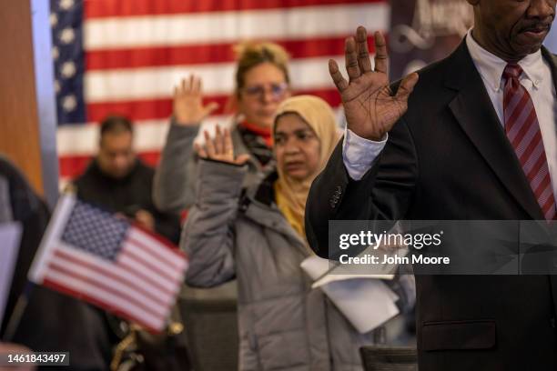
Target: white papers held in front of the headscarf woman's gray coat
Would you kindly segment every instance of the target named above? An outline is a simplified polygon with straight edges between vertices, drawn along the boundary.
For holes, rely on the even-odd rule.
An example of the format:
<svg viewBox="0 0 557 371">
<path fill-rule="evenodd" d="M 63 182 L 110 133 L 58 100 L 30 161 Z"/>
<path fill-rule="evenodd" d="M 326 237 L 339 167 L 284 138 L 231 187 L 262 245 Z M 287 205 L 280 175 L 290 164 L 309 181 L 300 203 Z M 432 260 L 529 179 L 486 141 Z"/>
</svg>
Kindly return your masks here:
<svg viewBox="0 0 557 371">
<path fill-rule="evenodd" d="M 308 257 L 300 266 L 315 281 L 312 287 L 320 287 L 361 334 L 399 314 L 399 296 L 380 279 L 392 275 L 331 274 L 329 261 L 319 256 Z"/>
</svg>

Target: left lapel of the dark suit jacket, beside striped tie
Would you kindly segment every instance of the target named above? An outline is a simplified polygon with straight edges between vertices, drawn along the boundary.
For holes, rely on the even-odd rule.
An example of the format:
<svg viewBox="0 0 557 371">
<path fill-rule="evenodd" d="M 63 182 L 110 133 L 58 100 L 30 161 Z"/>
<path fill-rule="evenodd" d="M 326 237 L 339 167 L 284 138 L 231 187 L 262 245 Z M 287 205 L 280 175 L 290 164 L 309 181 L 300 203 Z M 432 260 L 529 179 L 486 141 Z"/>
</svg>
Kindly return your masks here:
<svg viewBox="0 0 557 371">
<path fill-rule="evenodd" d="M 528 215 L 533 219 L 543 219 L 542 210 L 504 133 L 465 41 L 462 41 L 451 58 L 453 66 L 445 83 L 458 91 L 449 104 L 452 114 L 503 186 Z"/>
</svg>

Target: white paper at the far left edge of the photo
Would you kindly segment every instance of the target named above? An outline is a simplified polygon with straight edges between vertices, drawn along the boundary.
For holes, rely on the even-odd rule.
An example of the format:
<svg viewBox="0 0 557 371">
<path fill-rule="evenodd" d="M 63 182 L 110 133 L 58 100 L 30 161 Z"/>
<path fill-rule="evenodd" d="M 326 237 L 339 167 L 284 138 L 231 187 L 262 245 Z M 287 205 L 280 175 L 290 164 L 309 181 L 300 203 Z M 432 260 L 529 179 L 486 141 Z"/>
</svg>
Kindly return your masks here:
<svg viewBox="0 0 557 371">
<path fill-rule="evenodd" d="M 4 318 L 21 238 L 19 223 L 0 224 L 0 323 Z"/>
</svg>

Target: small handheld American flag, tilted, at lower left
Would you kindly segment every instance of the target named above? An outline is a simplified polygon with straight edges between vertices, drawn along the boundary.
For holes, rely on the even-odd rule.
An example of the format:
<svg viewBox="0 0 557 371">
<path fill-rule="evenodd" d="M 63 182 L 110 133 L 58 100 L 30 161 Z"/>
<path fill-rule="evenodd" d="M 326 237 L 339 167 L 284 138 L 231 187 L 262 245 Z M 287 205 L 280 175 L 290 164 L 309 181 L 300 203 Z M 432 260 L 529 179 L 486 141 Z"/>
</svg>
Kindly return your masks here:
<svg viewBox="0 0 557 371">
<path fill-rule="evenodd" d="M 186 256 L 162 237 L 66 195 L 29 279 L 158 332 L 186 269 Z"/>
</svg>

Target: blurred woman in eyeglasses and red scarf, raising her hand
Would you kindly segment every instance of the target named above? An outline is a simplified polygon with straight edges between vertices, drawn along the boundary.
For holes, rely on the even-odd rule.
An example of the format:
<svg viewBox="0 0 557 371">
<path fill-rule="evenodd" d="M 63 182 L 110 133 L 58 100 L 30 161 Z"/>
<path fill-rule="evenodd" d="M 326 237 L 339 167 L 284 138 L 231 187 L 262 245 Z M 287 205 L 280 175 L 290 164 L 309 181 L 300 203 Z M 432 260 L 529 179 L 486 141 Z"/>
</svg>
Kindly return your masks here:
<svg viewBox="0 0 557 371">
<path fill-rule="evenodd" d="M 231 138 L 239 155 L 248 155 L 244 186 L 253 184 L 273 164 L 271 125 L 279 104 L 290 95 L 289 56 L 279 45 L 245 43 L 238 55 Z M 174 91 L 173 117 L 167 143 L 157 166 L 153 196 L 164 211 L 182 212 L 195 202 L 197 155 L 193 151 L 199 125 L 218 108 L 203 105 L 201 80 L 189 76 Z"/>
</svg>

